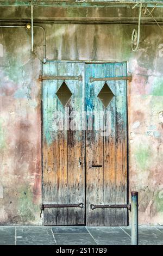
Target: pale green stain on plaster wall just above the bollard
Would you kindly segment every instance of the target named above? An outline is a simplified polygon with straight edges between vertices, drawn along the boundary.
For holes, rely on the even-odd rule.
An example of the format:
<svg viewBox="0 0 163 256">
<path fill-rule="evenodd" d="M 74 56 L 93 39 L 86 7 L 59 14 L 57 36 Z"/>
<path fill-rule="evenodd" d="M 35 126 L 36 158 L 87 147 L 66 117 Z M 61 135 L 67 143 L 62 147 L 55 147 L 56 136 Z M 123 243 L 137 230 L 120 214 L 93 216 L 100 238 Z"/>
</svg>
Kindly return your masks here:
<svg viewBox="0 0 163 256">
<path fill-rule="evenodd" d="M 141 170 L 146 170 L 146 168 L 149 166 L 149 161 L 151 159 L 151 149 L 149 146 L 140 144 L 139 147 L 135 150 L 135 159 L 137 166 Z"/>
</svg>

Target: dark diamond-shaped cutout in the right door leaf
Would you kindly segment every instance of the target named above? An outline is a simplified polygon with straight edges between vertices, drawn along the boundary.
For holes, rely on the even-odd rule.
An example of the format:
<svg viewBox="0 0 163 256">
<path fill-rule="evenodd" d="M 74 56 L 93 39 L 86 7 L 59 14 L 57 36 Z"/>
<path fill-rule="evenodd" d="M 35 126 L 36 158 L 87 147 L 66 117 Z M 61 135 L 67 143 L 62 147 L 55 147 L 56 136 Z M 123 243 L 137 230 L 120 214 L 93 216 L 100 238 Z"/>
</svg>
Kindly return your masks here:
<svg viewBox="0 0 163 256">
<path fill-rule="evenodd" d="M 106 82 L 104 83 L 104 86 L 99 92 L 99 94 L 97 95 L 97 97 L 99 97 L 99 99 L 102 101 L 105 107 L 109 105 L 110 101 L 114 97 L 114 94 L 112 93 L 112 91 L 110 90 Z"/>
</svg>

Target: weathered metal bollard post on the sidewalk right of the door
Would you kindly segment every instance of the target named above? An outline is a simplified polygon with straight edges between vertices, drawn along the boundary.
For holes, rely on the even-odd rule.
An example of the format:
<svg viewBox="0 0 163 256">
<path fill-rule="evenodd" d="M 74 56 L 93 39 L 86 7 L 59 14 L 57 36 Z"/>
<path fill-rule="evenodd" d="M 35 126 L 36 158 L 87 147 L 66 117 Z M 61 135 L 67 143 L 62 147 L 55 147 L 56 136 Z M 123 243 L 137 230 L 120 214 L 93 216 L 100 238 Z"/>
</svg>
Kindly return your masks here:
<svg viewBox="0 0 163 256">
<path fill-rule="evenodd" d="M 131 192 L 131 245 L 138 245 L 138 192 Z"/>
</svg>

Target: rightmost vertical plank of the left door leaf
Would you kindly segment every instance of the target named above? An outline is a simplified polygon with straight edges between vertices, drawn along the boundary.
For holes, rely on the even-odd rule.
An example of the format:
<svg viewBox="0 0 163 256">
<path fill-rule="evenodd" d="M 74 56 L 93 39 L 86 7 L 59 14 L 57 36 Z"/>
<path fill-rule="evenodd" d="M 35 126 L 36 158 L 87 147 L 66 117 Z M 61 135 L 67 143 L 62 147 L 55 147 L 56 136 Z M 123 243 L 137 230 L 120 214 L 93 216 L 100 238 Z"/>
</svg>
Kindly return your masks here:
<svg viewBox="0 0 163 256">
<path fill-rule="evenodd" d="M 67 75 L 78 76 L 82 75 L 82 63 L 68 63 Z M 82 110 L 83 106 L 83 82 L 77 80 L 67 81 L 68 87 L 73 93 L 68 107 L 72 114 L 70 118 L 70 130 L 67 131 L 67 192 L 68 203 L 78 204 L 84 203 L 84 208 L 69 208 L 67 214 L 67 223 L 84 224 L 85 223 L 85 131 L 82 131 Z M 73 115 L 73 112 L 76 112 Z M 81 163 L 81 164 L 80 164 Z"/>
</svg>

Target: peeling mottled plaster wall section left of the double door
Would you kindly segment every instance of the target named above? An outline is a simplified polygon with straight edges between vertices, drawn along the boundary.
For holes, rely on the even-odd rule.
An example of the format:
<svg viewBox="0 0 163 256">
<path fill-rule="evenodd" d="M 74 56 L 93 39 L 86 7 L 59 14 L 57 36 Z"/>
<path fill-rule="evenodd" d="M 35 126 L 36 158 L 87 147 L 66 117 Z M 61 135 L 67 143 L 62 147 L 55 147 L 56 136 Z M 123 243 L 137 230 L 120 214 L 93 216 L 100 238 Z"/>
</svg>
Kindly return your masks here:
<svg viewBox="0 0 163 256">
<path fill-rule="evenodd" d="M 25 29 L 1 29 L 0 220 L 39 223 L 41 202 L 40 60 Z"/>
</svg>

